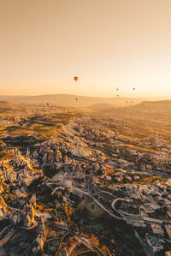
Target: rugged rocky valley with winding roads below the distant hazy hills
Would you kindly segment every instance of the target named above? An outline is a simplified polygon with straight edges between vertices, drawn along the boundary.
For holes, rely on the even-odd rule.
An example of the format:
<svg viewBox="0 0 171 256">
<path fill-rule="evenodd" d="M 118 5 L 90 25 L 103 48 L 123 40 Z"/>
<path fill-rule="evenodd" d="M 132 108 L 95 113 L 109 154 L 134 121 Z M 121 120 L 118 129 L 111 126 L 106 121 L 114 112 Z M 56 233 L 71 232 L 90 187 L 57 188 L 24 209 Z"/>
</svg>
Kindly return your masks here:
<svg viewBox="0 0 171 256">
<path fill-rule="evenodd" d="M 0 255 L 171 255 L 170 124 L 144 106 L 4 104 Z"/>
</svg>

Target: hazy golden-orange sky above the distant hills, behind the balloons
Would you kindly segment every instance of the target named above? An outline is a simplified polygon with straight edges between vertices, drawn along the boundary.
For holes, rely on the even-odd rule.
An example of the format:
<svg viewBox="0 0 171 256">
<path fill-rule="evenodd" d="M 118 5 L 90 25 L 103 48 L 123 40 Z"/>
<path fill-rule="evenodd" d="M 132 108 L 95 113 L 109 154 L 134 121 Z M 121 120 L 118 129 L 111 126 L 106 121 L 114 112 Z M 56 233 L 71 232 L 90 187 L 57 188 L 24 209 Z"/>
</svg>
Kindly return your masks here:
<svg viewBox="0 0 171 256">
<path fill-rule="evenodd" d="M 0 94 L 171 98 L 171 0 L 0 0 L 0 35 Z"/>
</svg>

